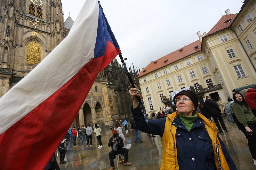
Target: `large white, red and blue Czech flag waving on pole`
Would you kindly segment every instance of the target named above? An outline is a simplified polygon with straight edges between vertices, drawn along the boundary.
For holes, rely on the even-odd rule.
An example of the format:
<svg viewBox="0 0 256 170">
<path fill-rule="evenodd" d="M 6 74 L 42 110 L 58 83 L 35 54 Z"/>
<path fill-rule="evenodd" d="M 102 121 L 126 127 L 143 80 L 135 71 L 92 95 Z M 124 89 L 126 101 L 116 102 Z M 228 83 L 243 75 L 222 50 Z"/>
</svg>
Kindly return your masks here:
<svg viewBox="0 0 256 170">
<path fill-rule="evenodd" d="M 98 1 L 86 0 L 68 36 L 0 98 L 0 169 L 44 169 L 118 53 Z"/>
</svg>

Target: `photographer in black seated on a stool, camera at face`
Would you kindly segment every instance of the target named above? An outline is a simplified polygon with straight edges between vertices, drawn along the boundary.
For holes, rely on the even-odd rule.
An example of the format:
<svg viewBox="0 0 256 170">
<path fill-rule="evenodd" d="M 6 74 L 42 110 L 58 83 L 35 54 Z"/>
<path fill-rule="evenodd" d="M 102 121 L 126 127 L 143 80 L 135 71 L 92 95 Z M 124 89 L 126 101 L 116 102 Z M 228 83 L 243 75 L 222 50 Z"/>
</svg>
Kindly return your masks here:
<svg viewBox="0 0 256 170">
<path fill-rule="evenodd" d="M 117 154 L 124 155 L 124 165 L 126 166 L 131 165 L 131 163 L 128 163 L 129 149 L 122 148 L 124 147 L 124 141 L 120 136 L 118 136 L 117 133 L 114 133 L 113 136 L 109 139 L 108 146 L 111 146 L 111 152 L 108 153 L 110 166 L 111 166 L 109 170 L 115 169 L 114 157 Z"/>
</svg>

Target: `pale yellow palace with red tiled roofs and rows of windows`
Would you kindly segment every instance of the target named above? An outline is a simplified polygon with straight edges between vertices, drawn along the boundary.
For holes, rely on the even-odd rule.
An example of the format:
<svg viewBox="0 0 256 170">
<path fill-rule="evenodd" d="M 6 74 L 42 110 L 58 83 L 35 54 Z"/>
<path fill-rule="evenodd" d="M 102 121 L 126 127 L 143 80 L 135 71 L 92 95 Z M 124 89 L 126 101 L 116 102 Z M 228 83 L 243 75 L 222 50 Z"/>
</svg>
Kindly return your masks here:
<svg viewBox="0 0 256 170">
<path fill-rule="evenodd" d="M 242 87 L 245 92 L 244 86 L 256 86 L 255 0 L 245 0 L 238 14 L 226 10 L 208 33 L 197 35 L 195 42 L 152 61 L 140 72 L 137 78 L 149 115 L 173 106 L 172 92 L 187 87 L 194 87 L 199 99 L 211 96 L 227 102 L 232 90 Z"/>
</svg>

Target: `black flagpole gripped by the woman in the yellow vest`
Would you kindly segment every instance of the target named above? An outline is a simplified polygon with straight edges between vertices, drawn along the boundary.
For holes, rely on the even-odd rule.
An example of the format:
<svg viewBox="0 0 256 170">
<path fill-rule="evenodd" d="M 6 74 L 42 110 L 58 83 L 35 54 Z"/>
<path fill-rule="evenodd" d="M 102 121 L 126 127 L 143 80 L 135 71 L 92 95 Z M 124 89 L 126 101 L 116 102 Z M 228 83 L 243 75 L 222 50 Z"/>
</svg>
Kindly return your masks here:
<svg viewBox="0 0 256 170">
<path fill-rule="evenodd" d="M 127 58 L 123 58 L 122 53 L 119 53 L 118 55 L 119 55 L 119 58 L 121 59 L 121 62 L 123 63 L 123 66 L 124 66 L 124 69 L 125 69 L 125 73 L 126 73 L 128 79 L 129 79 L 130 83 L 132 84 L 132 87 L 133 87 L 133 88 L 136 88 L 136 87 L 135 87 L 135 84 L 134 84 L 134 82 L 133 82 L 133 80 L 132 80 L 132 76 L 131 76 L 131 74 L 129 73 L 129 71 L 128 71 L 127 67 L 126 67 L 126 64 L 125 64 L 125 62 L 124 62 L 125 60 L 127 60 Z M 139 89 L 138 89 L 138 90 L 139 90 Z M 144 104 L 143 104 L 143 102 L 141 101 L 141 99 L 140 99 L 139 96 L 136 96 L 136 98 L 137 98 L 137 100 L 138 100 L 138 102 L 139 102 L 139 109 L 142 109 L 142 111 L 143 111 L 143 116 L 144 116 L 144 118 L 145 118 L 146 124 L 148 124 L 148 117 L 147 117 L 147 113 L 146 113 L 146 109 L 145 109 L 145 107 L 144 107 Z"/>
</svg>

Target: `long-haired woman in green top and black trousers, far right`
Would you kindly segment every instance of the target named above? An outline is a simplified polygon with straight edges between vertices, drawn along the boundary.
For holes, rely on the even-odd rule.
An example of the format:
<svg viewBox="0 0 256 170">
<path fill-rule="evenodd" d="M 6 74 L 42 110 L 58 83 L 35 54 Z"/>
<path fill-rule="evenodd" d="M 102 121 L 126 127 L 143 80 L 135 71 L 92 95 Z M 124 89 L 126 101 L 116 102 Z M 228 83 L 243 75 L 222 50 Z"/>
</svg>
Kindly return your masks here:
<svg viewBox="0 0 256 170">
<path fill-rule="evenodd" d="M 235 92 L 233 94 L 234 103 L 231 104 L 231 113 L 237 124 L 239 130 L 241 130 L 248 140 L 248 147 L 256 165 L 256 121 L 255 116 L 252 113 L 252 109 L 244 100 L 244 96 Z"/>
</svg>

